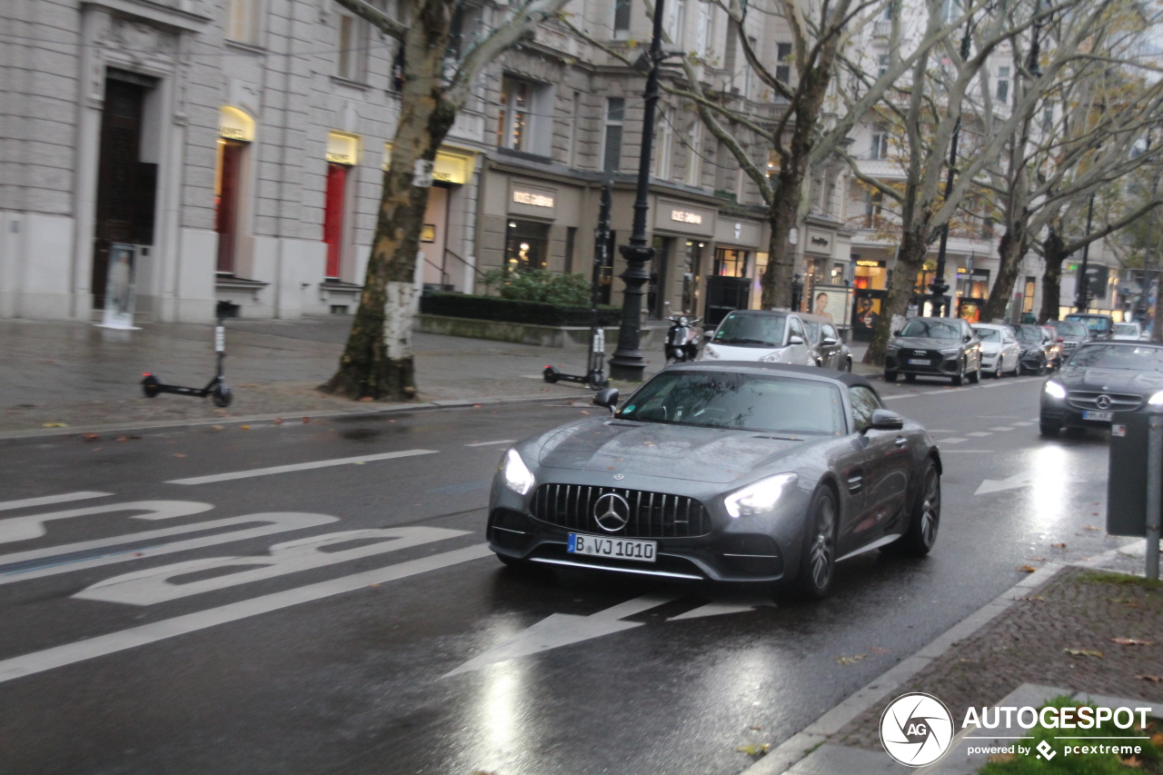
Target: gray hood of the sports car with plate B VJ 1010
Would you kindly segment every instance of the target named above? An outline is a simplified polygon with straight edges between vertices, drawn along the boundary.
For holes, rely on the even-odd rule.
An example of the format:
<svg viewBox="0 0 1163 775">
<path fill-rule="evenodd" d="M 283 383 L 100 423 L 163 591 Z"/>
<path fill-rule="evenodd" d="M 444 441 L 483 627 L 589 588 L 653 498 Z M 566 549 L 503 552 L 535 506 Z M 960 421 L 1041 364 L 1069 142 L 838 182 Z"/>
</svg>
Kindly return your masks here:
<svg viewBox="0 0 1163 775">
<path fill-rule="evenodd" d="M 790 441 L 755 431 L 590 420 L 554 434 L 542 446 L 538 462 L 548 468 L 728 484 L 813 440 Z"/>
</svg>

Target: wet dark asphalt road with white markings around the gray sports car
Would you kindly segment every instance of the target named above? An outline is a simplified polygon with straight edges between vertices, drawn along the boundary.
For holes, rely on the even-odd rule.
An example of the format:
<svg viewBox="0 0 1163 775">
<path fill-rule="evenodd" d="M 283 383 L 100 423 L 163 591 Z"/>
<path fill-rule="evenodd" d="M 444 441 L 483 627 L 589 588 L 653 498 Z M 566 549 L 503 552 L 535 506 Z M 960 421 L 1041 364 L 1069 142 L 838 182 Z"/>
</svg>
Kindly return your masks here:
<svg viewBox="0 0 1163 775">
<path fill-rule="evenodd" d="M 0 772 L 741 773 L 1053 543 L 1114 546 L 1106 440 L 1040 439 L 1041 379 L 877 384 L 941 446 L 941 534 L 811 605 L 481 552 L 504 442 L 580 404 L 0 442 Z"/>
</svg>

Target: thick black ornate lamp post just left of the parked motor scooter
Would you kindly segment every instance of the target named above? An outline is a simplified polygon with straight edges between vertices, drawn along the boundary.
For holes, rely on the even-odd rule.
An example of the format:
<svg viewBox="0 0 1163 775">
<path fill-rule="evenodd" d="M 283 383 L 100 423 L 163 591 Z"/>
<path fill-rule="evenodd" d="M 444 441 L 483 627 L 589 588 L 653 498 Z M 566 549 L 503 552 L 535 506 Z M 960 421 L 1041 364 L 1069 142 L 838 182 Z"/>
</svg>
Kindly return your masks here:
<svg viewBox="0 0 1163 775">
<path fill-rule="evenodd" d="M 630 243 L 619 247 L 626 258 L 626 271 L 620 275 L 626 283 L 622 292 L 622 323 L 618 329 L 618 349 L 609 358 L 609 376 L 614 379 L 642 381 L 645 358 L 638 349 L 642 328 L 642 286 L 649 279 L 647 264 L 655 250 L 647 242 L 647 211 L 650 191 L 650 155 L 654 147 L 655 113 L 658 105 L 658 65 L 662 63 L 663 0 L 655 0 L 654 37 L 647 55 L 650 66 L 647 76 L 645 111 L 642 115 L 642 152 L 638 157 L 638 189 L 634 199 L 634 230 Z"/>
</svg>

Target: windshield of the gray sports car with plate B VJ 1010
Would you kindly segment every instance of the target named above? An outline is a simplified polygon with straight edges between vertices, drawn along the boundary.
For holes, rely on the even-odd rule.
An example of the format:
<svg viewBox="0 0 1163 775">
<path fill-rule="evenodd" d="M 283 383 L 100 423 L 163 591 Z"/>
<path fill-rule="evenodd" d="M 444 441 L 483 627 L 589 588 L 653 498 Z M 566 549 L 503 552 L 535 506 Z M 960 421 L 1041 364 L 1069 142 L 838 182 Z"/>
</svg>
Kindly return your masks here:
<svg viewBox="0 0 1163 775">
<path fill-rule="evenodd" d="M 814 379 L 733 372 L 666 371 L 618 412 L 625 420 L 786 433 L 843 435 L 844 410 L 835 385 Z"/>
</svg>

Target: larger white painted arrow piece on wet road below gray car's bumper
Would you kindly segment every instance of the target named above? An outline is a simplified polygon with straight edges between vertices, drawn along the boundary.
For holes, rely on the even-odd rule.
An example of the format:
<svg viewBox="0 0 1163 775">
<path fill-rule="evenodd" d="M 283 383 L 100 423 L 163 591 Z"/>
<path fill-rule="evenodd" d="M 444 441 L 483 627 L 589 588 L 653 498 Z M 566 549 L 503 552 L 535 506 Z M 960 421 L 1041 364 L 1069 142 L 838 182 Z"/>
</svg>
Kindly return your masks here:
<svg viewBox="0 0 1163 775">
<path fill-rule="evenodd" d="M 677 595 L 643 595 L 642 597 L 619 603 L 615 606 L 598 611 L 598 613 L 587 617 L 579 617 L 572 613 L 554 613 L 549 618 L 542 619 L 521 632 L 512 640 L 500 646 L 494 646 L 480 656 L 469 660 L 451 673 L 447 673 L 444 677 L 479 670 L 490 664 L 508 662 L 519 656 L 548 652 L 551 648 L 569 646 L 570 644 L 590 640 L 591 638 L 600 638 L 601 635 L 609 635 L 623 630 L 641 627 L 642 623 L 640 621 L 619 621 L 619 619 L 641 613 L 642 611 L 657 607 L 663 603 L 670 603 L 675 599 L 678 599 Z"/>
</svg>

